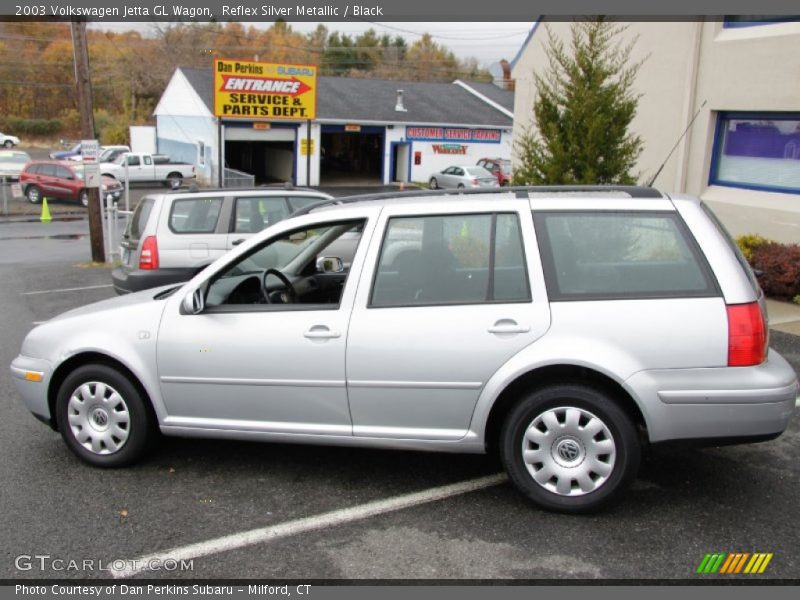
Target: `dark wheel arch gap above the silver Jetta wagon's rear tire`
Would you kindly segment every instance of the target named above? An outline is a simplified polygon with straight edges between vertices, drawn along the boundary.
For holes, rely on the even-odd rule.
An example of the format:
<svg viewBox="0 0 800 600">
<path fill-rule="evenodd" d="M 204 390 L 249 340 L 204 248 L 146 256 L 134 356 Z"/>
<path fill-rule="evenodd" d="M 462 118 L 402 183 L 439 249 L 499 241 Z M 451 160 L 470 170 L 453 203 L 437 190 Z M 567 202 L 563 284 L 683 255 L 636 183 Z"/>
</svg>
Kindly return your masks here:
<svg viewBox="0 0 800 600">
<path fill-rule="evenodd" d="M 639 404 L 622 384 L 590 367 L 572 364 L 547 365 L 526 371 L 512 380 L 495 398 L 484 424 L 483 442 L 487 452 L 494 452 L 506 416 L 525 394 L 556 384 L 578 384 L 606 392 L 647 439 L 647 421 Z"/>
</svg>

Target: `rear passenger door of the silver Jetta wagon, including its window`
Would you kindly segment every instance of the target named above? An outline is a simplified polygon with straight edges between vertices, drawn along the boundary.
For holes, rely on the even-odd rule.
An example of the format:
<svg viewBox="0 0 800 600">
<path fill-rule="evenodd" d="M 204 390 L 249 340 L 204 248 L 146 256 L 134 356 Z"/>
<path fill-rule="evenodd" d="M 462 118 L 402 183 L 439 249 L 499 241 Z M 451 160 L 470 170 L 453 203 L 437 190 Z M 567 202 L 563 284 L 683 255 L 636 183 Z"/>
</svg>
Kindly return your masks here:
<svg viewBox="0 0 800 600">
<path fill-rule="evenodd" d="M 456 440 L 484 384 L 548 329 L 530 207 L 384 208 L 347 346 L 353 434 Z"/>
</svg>

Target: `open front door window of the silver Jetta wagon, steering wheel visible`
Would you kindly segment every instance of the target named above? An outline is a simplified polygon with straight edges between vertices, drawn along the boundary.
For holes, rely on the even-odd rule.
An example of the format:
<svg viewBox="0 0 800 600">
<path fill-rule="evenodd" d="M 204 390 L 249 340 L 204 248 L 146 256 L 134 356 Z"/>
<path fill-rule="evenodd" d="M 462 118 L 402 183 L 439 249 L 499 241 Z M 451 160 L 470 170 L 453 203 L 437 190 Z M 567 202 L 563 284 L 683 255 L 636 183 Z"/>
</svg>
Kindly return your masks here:
<svg viewBox="0 0 800 600">
<path fill-rule="evenodd" d="M 317 270 L 317 260 L 320 257 L 338 257 L 329 252 L 329 248 L 341 246 L 345 238 L 346 243 L 352 243 L 355 252 L 364 223 L 364 220 L 358 220 L 317 224 L 265 241 L 213 278 L 206 293 L 206 306 L 212 311 L 215 308 L 285 310 L 290 308 L 284 306 L 287 304 L 300 308 L 309 305 L 338 307 L 349 273 L 349 262 L 345 262 L 341 271 L 321 273 Z M 281 277 L 267 273 L 269 269 L 277 270 L 292 282 L 294 297 L 288 293 Z M 269 295 L 270 302 L 266 301 L 265 294 Z"/>
</svg>

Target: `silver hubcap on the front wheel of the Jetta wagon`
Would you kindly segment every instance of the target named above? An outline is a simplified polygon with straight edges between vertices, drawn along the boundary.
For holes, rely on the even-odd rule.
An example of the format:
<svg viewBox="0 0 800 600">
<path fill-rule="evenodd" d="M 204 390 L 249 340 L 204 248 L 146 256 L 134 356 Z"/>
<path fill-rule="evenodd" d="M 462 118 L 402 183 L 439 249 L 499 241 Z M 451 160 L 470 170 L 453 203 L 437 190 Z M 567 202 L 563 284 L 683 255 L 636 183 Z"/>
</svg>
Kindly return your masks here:
<svg viewBox="0 0 800 600">
<path fill-rule="evenodd" d="M 130 435 L 130 414 L 122 396 L 107 383 L 89 381 L 72 392 L 69 427 L 81 446 L 94 454 L 113 454 Z"/>
</svg>

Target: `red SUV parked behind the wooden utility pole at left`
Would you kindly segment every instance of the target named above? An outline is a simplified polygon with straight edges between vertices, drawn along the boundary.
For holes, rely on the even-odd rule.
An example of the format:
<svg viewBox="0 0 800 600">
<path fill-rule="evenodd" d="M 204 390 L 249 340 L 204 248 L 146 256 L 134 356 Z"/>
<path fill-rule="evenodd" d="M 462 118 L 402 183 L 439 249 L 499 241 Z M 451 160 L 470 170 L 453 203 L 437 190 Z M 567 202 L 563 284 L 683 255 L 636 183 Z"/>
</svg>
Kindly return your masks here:
<svg viewBox="0 0 800 600">
<path fill-rule="evenodd" d="M 32 204 L 42 198 L 75 200 L 89 205 L 89 193 L 83 183 L 83 165 L 72 161 L 34 160 L 25 165 L 19 175 L 22 192 Z M 115 201 L 122 196 L 122 184 L 112 177 L 100 182 L 102 198 L 111 196 Z"/>
</svg>

